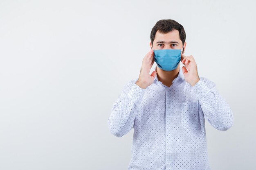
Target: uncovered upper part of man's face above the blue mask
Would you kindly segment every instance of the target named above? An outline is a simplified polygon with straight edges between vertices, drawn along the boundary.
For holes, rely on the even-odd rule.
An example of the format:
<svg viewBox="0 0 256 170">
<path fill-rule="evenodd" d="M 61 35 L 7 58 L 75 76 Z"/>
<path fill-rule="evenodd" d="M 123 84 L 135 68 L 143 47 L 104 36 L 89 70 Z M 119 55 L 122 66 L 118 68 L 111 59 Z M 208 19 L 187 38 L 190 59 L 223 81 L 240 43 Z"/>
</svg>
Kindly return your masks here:
<svg viewBox="0 0 256 170">
<path fill-rule="evenodd" d="M 151 42 L 150 42 L 150 46 L 152 46 Z M 159 31 L 157 31 L 155 34 L 155 39 L 153 41 L 153 50 L 166 50 L 166 49 L 181 50 L 183 48 L 183 51 L 184 51 L 185 47 L 186 47 L 186 42 L 184 43 L 184 48 L 183 48 L 178 30 L 173 30 L 165 34 L 159 33 Z"/>
</svg>

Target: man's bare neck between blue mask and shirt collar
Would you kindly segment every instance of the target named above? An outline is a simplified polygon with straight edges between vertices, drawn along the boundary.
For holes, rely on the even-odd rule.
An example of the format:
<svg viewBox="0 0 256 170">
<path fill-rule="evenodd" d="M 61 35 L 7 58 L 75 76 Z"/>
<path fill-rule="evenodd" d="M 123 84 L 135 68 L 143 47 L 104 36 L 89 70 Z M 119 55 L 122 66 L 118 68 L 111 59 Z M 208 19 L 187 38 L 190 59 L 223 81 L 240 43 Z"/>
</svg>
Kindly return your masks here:
<svg viewBox="0 0 256 170">
<path fill-rule="evenodd" d="M 164 85 L 170 87 L 173 84 L 173 80 L 178 76 L 180 70 L 180 64 L 175 70 L 165 71 L 157 67 L 157 79 L 161 81 Z M 181 70 L 182 71 L 182 70 Z"/>
</svg>

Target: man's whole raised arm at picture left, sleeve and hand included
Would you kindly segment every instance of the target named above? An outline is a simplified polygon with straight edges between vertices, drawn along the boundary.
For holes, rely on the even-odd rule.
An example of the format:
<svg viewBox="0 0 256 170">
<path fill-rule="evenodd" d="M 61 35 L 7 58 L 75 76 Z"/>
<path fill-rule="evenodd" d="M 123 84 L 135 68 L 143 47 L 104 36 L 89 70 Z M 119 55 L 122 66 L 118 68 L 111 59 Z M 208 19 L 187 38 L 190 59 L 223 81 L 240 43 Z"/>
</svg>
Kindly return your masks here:
<svg viewBox="0 0 256 170">
<path fill-rule="evenodd" d="M 108 118 L 110 132 L 121 137 L 128 133 L 134 126 L 135 117 L 140 112 L 139 104 L 144 96 L 146 88 L 154 82 L 156 71 L 149 74 L 154 60 L 151 49 L 143 58 L 139 78 L 129 81 L 124 87 L 117 101 L 114 103 L 111 115 Z"/>
</svg>

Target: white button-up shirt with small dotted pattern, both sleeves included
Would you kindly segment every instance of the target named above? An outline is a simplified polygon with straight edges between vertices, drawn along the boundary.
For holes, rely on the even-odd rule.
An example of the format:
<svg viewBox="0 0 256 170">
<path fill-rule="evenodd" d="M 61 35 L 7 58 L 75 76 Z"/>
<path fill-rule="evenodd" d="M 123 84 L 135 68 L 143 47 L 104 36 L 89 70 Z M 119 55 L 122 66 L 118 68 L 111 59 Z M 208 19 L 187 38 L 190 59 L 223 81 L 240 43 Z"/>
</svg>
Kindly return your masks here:
<svg viewBox="0 0 256 170">
<path fill-rule="evenodd" d="M 170 87 L 157 76 L 146 89 L 137 80 L 124 86 L 108 118 L 117 137 L 134 128 L 128 170 L 210 170 L 205 119 L 220 131 L 234 122 L 216 84 L 200 77 L 191 86 L 181 66 Z"/>
</svg>

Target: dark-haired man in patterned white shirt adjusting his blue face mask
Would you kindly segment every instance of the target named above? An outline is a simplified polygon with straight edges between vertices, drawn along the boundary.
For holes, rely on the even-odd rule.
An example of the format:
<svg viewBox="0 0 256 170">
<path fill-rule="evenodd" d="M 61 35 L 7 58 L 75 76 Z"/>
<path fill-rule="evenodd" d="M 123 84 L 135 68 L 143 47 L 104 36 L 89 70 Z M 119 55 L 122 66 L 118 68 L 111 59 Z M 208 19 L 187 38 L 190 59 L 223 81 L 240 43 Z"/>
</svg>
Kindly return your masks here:
<svg viewBox="0 0 256 170">
<path fill-rule="evenodd" d="M 181 24 L 159 20 L 150 39 L 139 78 L 125 85 L 112 107 L 109 130 L 121 137 L 134 128 L 129 170 L 210 170 L 205 119 L 227 131 L 233 113 L 216 84 L 198 76 L 194 57 L 184 55 Z"/>
</svg>

